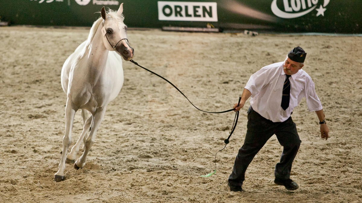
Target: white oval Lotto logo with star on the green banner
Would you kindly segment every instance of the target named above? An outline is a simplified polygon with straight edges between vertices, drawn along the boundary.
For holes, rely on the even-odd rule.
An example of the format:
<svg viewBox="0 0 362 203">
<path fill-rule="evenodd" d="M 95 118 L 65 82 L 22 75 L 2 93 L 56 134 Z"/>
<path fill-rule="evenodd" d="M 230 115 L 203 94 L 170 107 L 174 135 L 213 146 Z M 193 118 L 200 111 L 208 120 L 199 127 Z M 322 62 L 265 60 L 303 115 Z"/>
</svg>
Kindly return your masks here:
<svg viewBox="0 0 362 203">
<path fill-rule="evenodd" d="M 278 0 L 283 1 L 284 8 L 279 8 L 277 0 L 273 0 L 271 3 L 271 11 L 275 16 L 281 18 L 298 18 L 310 13 L 312 10 L 316 10 L 316 16 L 324 16 L 325 6 L 328 5 L 329 0 L 323 0 L 323 4 L 318 3 L 318 0 Z M 317 6 L 319 5 L 319 8 Z"/>
</svg>

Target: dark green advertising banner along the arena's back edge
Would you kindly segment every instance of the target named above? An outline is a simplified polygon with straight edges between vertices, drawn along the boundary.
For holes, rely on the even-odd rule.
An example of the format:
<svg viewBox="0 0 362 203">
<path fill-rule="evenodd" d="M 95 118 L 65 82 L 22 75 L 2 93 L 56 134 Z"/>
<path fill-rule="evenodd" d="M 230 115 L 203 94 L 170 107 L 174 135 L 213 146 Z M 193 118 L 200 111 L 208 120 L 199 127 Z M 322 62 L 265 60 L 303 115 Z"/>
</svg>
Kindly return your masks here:
<svg viewBox="0 0 362 203">
<path fill-rule="evenodd" d="M 91 26 L 102 6 L 121 3 L 129 27 L 362 33 L 362 0 L 0 0 L 0 17 L 11 25 Z"/>
</svg>

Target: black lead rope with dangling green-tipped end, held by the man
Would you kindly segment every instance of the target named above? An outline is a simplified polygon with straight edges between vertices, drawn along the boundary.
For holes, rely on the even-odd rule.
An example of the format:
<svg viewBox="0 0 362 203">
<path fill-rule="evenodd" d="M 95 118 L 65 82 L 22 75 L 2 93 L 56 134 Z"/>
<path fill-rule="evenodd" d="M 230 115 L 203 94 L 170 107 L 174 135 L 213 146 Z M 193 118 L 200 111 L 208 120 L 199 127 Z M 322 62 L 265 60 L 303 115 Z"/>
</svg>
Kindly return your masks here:
<svg viewBox="0 0 362 203">
<path fill-rule="evenodd" d="M 210 113 L 210 114 L 222 114 L 222 113 L 226 113 L 226 112 L 235 110 L 235 108 L 234 108 L 234 109 L 230 109 L 230 110 L 226 110 L 226 111 L 219 111 L 219 112 L 210 112 L 210 111 L 201 110 L 201 109 L 199 109 L 198 107 L 196 107 L 196 106 L 189 100 L 189 98 L 187 98 L 186 95 L 185 95 L 184 93 L 182 93 L 181 90 L 178 89 L 178 88 L 177 88 L 174 84 L 172 84 L 169 80 L 167 80 L 166 78 L 162 77 L 161 75 L 159 75 L 159 74 L 157 74 L 157 73 L 155 73 L 155 72 L 153 72 L 153 71 L 151 71 L 151 70 L 146 69 L 145 67 L 139 65 L 137 62 L 133 61 L 132 59 L 130 60 L 130 62 L 134 63 L 135 65 L 141 67 L 141 68 L 144 69 L 144 70 L 147 70 L 148 72 L 151 72 L 151 73 L 154 74 L 154 75 L 159 76 L 160 78 L 162 78 L 163 80 L 165 80 L 166 82 L 168 82 L 169 84 L 171 84 L 175 89 L 177 89 L 178 92 L 180 92 L 180 93 L 191 103 L 192 106 L 194 106 L 194 107 L 195 107 L 197 110 L 199 110 L 199 111 L 206 112 L 206 113 Z M 239 106 L 240 101 L 241 101 L 241 97 L 239 97 L 239 102 L 237 103 L 237 106 Z M 232 133 L 234 132 L 234 130 L 235 130 L 235 128 L 236 128 L 236 124 L 237 124 L 237 119 L 238 119 L 238 118 L 239 118 L 239 111 L 236 111 L 236 113 L 235 113 L 235 118 L 234 118 L 234 122 L 233 122 L 232 127 L 231 127 L 232 130 L 231 130 L 231 132 L 230 132 L 229 137 L 224 140 L 225 146 L 224 146 L 223 149 L 225 149 L 226 145 L 229 144 L 229 139 L 230 139 Z M 222 151 L 223 149 L 221 149 L 221 150 L 219 150 L 219 151 Z M 218 152 L 219 152 L 219 151 L 218 151 Z M 216 154 L 215 154 L 215 170 L 214 170 L 212 173 L 209 173 L 208 175 L 202 176 L 202 177 L 209 177 L 209 176 L 215 174 L 215 172 L 216 172 L 216 155 L 218 154 L 218 152 L 216 152 Z"/>
</svg>

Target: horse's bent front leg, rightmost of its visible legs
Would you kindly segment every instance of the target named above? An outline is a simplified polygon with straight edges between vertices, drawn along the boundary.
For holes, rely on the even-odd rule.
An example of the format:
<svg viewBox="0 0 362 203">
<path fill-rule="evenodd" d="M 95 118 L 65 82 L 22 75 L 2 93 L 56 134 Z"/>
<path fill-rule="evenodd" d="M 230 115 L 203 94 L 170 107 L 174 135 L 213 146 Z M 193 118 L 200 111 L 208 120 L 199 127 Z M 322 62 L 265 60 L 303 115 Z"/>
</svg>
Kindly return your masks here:
<svg viewBox="0 0 362 203">
<path fill-rule="evenodd" d="M 85 148 L 84 148 L 83 154 L 74 163 L 75 169 L 84 167 L 85 162 L 87 160 L 89 150 L 94 144 L 94 139 L 96 137 L 98 127 L 100 126 L 100 124 L 104 118 L 105 111 L 106 111 L 106 107 L 99 107 L 97 109 L 96 113 L 93 115 L 92 128 L 90 129 L 89 136 L 87 137 L 87 140 L 85 141 Z"/>
</svg>

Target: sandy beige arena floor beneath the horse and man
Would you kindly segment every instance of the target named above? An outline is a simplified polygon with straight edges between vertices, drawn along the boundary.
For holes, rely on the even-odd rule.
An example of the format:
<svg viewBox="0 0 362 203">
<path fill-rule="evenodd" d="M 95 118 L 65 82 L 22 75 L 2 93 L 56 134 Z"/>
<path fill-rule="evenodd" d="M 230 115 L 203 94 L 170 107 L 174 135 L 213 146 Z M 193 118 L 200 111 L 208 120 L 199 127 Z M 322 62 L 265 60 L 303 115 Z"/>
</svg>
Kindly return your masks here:
<svg viewBox="0 0 362 203">
<path fill-rule="evenodd" d="M 0 202 L 362 202 L 362 37 L 129 30 L 134 60 L 165 76 L 198 107 L 232 109 L 249 76 L 283 61 L 296 46 L 315 82 L 330 138 L 320 138 L 305 100 L 292 115 L 302 140 L 291 178 L 294 192 L 273 183 L 282 151 L 275 136 L 250 164 L 245 192 L 228 191 L 246 132 L 246 111 L 224 147 L 234 112 L 196 110 L 171 85 L 123 61 L 125 83 L 106 112 L 83 169 L 67 164 L 53 181 L 64 135 L 65 59 L 89 28 L 0 28 Z M 248 103 L 245 105 L 248 106 Z M 72 144 L 81 132 L 76 114 Z"/>
</svg>

